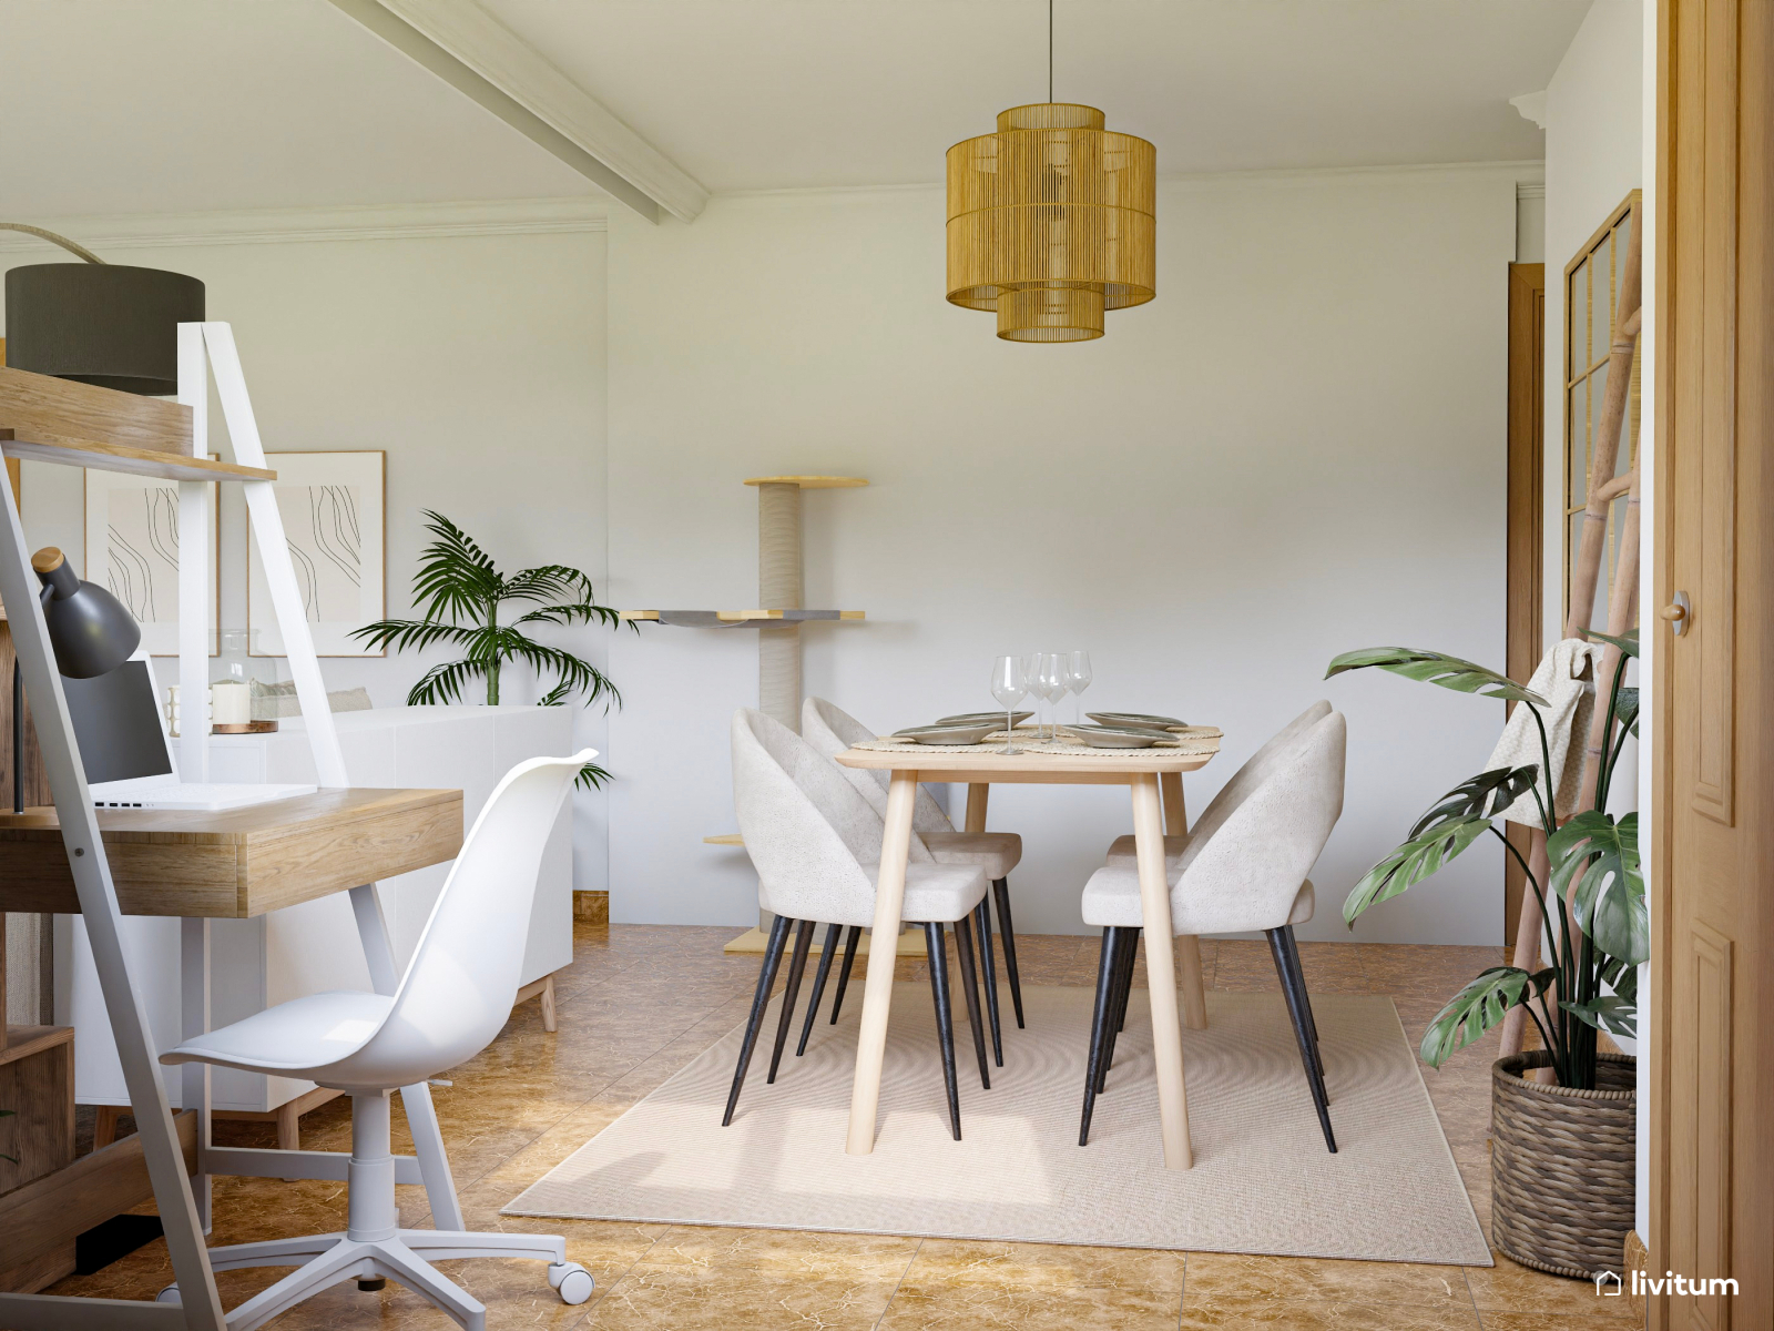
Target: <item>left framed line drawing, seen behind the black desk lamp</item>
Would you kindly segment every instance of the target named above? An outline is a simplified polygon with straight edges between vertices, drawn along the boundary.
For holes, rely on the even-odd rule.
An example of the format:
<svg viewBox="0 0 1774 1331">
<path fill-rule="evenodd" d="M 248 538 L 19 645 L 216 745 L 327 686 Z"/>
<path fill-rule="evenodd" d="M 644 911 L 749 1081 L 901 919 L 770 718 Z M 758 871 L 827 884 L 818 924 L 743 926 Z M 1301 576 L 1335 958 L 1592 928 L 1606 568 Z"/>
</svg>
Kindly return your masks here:
<svg viewBox="0 0 1774 1331">
<path fill-rule="evenodd" d="M 216 454 L 209 454 L 211 460 Z M 179 486 L 124 472 L 85 470 L 85 577 L 121 600 L 142 625 L 151 657 L 179 655 Z M 216 488 L 204 486 L 209 515 L 209 655 L 222 651 L 222 525 Z"/>
</svg>

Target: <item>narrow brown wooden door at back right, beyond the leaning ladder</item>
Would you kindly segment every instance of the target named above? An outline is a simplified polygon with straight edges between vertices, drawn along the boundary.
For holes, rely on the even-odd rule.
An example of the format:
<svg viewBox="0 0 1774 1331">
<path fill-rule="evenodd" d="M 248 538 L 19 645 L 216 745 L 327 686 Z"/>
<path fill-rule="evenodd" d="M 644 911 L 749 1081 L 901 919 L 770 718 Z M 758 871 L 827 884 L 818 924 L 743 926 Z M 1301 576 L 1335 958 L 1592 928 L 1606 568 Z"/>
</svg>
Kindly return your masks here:
<svg viewBox="0 0 1774 1331">
<path fill-rule="evenodd" d="M 1510 264 L 1510 470 L 1506 673 L 1527 680 L 1540 664 L 1545 564 L 1545 343 L 1547 266 Z M 1511 703 L 1510 710 L 1517 705 Z M 1527 857 L 1527 829 L 1508 823 L 1515 850 Z M 1503 861 L 1503 942 L 1515 942 L 1527 878 L 1515 855 Z"/>
</svg>

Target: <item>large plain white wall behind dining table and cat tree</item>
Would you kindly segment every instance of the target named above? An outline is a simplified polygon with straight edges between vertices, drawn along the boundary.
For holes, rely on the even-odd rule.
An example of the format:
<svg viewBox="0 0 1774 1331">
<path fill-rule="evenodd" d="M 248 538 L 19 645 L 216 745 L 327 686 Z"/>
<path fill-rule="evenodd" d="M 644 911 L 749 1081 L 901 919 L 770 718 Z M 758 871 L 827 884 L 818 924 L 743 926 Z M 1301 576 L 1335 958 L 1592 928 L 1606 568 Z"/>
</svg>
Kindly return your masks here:
<svg viewBox="0 0 1774 1331">
<path fill-rule="evenodd" d="M 882 728 L 990 706 L 1002 651 L 1087 648 L 1096 708 L 1224 728 L 1199 809 L 1315 697 L 1350 717 L 1343 822 L 1309 937 L 1428 802 L 1483 763 L 1494 703 L 1329 658 L 1382 642 L 1503 664 L 1506 264 L 1515 172 L 1167 183 L 1151 305 L 1082 346 L 1011 346 L 942 300 L 940 190 L 718 197 L 692 227 L 612 218 L 610 580 L 619 605 L 745 607 L 745 476 L 807 495 L 807 690 Z M 743 630 L 612 644 L 612 918 L 756 919 L 731 831 Z M 1001 786 L 1018 926 L 1082 932 L 1128 831 L 1116 788 Z M 1478 847 L 1355 937 L 1501 937 Z"/>
</svg>

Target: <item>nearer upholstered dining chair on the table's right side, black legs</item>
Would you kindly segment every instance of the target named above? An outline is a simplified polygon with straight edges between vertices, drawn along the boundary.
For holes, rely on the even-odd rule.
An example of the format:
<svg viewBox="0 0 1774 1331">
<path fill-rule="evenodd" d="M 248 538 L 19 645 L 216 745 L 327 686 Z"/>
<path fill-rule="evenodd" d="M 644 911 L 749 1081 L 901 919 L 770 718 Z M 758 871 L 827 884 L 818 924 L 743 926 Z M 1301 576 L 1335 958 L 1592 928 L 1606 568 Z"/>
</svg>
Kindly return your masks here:
<svg viewBox="0 0 1774 1331">
<path fill-rule="evenodd" d="M 1313 1107 L 1330 1152 L 1336 1152 L 1336 1136 L 1330 1130 L 1330 1100 L 1318 1052 L 1318 1024 L 1313 1020 L 1293 926 L 1313 918 L 1313 884 L 1306 875 L 1343 813 L 1346 740 L 1348 728 L 1341 712 L 1315 721 L 1268 763 L 1268 770 L 1242 799 L 1229 804 L 1224 818 L 1190 836 L 1181 862 L 1169 873 L 1173 932 L 1263 930 L 1268 937 Z M 1089 1143 L 1091 1113 L 1109 1079 L 1116 1033 L 1126 1019 L 1141 921 L 1139 870 L 1128 864 L 1096 870 L 1084 886 L 1084 923 L 1102 928 L 1103 944 L 1084 1074 L 1080 1146 Z M 1153 944 L 1148 942 L 1150 946 Z"/>
</svg>

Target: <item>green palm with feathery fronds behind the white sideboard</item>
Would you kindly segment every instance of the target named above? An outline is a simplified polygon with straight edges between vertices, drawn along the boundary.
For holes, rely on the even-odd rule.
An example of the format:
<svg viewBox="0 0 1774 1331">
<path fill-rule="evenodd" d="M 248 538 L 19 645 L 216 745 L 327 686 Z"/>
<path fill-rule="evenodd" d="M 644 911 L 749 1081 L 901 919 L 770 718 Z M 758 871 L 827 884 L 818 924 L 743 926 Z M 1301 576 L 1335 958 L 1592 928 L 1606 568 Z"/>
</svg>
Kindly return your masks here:
<svg viewBox="0 0 1774 1331">
<path fill-rule="evenodd" d="M 392 646 L 396 651 L 422 650 L 435 642 L 451 642 L 465 651 L 459 660 L 426 671 L 408 690 L 408 706 L 456 703 L 472 680 L 486 681 L 486 705 L 497 706 L 500 673 L 513 660 L 538 674 L 553 674 L 553 687 L 536 699 L 543 706 L 559 706 L 575 696 L 584 696 L 587 706 L 600 697 L 605 699 L 605 708 L 623 705 L 621 692 L 596 666 L 538 642 L 525 632 L 527 625 L 617 626 L 621 616 L 598 603 L 589 577 L 566 564 L 500 573 L 468 532 L 431 509 L 426 509 L 426 531 L 435 539 L 420 554 L 419 573 L 413 577 L 413 602 L 420 607 L 420 618 L 380 619 L 351 634 L 371 646 Z M 506 602 L 538 603 L 538 609 L 500 623 L 498 609 Z M 585 763 L 578 774 L 580 784 L 589 786 L 598 786 L 607 777 L 608 772 L 596 763 Z"/>
</svg>

